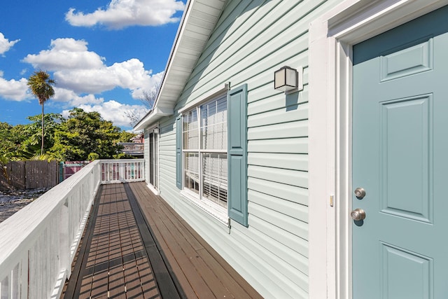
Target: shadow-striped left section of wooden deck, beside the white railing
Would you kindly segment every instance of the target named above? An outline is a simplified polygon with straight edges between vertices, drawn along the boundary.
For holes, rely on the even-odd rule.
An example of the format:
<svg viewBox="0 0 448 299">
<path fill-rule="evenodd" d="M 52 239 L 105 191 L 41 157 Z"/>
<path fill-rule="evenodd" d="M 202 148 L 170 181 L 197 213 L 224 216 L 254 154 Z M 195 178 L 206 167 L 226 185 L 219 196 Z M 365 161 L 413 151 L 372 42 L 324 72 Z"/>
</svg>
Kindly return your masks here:
<svg viewBox="0 0 448 299">
<path fill-rule="evenodd" d="M 64 298 L 161 298 L 123 184 L 99 193 Z"/>
</svg>

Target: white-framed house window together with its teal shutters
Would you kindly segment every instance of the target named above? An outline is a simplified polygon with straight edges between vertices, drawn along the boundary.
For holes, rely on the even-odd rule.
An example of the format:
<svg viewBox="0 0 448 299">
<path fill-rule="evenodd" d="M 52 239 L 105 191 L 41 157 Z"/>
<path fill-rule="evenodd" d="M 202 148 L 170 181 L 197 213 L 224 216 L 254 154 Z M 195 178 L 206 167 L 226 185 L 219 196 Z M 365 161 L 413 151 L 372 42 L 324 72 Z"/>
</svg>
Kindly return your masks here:
<svg viewBox="0 0 448 299">
<path fill-rule="evenodd" d="M 222 221 L 248 226 L 247 84 L 176 118 L 176 186 Z"/>
</svg>

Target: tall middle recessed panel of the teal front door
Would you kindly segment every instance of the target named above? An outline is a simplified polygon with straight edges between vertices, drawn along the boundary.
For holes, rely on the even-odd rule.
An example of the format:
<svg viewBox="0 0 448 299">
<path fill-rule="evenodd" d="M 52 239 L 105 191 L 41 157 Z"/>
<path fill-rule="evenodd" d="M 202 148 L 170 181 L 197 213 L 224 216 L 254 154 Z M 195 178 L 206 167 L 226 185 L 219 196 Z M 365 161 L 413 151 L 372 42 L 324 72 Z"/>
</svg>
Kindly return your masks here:
<svg viewBox="0 0 448 299">
<path fill-rule="evenodd" d="M 428 178 L 433 158 L 429 140 L 433 133 L 432 96 L 379 104 L 381 211 L 430 223 L 433 199 Z M 404 178 L 402 174 L 412 175 Z M 407 200 L 409 198 L 414 200 Z"/>
</svg>

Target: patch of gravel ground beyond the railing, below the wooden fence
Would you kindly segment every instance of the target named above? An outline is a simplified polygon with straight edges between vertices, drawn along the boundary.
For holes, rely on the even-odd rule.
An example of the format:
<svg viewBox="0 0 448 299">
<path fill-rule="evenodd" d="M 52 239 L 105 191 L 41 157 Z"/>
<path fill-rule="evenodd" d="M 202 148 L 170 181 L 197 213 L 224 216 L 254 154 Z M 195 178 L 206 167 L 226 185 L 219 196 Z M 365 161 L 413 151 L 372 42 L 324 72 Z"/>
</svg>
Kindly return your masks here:
<svg viewBox="0 0 448 299">
<path fill-rule="evenodd" d="M 36 200 L 50 188 L 37 188 L 29 190 L 0 191 L 0 223 L 22 209 L 27 204 Z"/>
</svg>

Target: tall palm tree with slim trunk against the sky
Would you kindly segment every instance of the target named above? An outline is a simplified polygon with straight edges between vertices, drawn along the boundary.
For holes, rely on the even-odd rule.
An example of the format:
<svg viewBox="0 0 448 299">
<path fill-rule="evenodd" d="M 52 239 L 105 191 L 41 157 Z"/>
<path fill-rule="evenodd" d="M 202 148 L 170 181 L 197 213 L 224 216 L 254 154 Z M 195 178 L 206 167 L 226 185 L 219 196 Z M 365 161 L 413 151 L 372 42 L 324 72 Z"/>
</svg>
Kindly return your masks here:
<svg viewBox="0 0 448 299">
<path fill-rule="evenodd" d="M 46 71 L 34 71 L 28 78 L 27 85 L 31 90 L 31 93 L 37 97 L 39 104 L 42 105 L 42 146 L 41 153 L 43 153 L 43 103 L 45 103 L 50 97 L 55 96 L 55 90 L 52 85 L 55 81 L 50 78 L 50 75 Z"/>
</svg>

